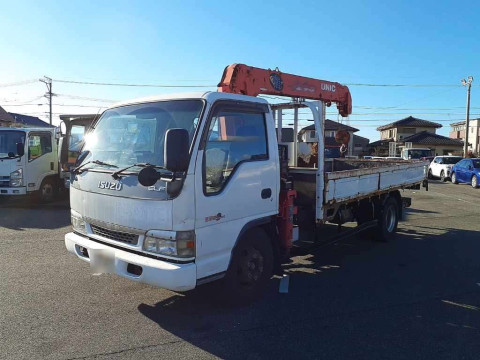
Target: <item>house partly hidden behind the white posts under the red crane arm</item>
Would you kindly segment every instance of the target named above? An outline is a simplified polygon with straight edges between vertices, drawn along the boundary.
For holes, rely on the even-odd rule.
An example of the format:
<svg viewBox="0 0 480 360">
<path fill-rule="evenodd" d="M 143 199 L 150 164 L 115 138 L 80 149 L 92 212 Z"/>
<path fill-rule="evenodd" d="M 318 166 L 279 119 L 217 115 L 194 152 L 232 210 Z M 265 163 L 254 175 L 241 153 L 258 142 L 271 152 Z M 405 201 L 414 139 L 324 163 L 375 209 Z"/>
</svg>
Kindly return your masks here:
<svg viewBox="0 0 480 360">
<path fill-rule="evenodd" d="M 350 141 L 348 144 L 348 154 L 347 155 L 357 155 L 355 153 L 355 146 L 354 146 L 354 134 L 355 132 L 358 131 L 358 129 L 339 123 L 337 121 L 325 120 L 325 125 L 324 125 L 324 132 L 325 132 L 325 147 L 329 149 L 340 149 L 340 146 L 342 144 L 339 144 L 338 142 L 335 141 L 335 135 L 337 131 L 339 130 L 344 130 L 348 131 L 350 135 Z M 301 151 L 300 149 L 303 148 L 300 143 L 316 143 L 316 134 L 315 134 L 315 125 L 309 125 L 304 127 L 298 132 L 298 141 L 299 141 L 299 152 Z M 359 136 L 360 138 L 360 136 Z M 365 139 L 365 138 L 362 138 Z M 368 139 L 366 139 L 368 140 Z M 362 142 L 363 143 L 363 142 Z"/>
</svg>

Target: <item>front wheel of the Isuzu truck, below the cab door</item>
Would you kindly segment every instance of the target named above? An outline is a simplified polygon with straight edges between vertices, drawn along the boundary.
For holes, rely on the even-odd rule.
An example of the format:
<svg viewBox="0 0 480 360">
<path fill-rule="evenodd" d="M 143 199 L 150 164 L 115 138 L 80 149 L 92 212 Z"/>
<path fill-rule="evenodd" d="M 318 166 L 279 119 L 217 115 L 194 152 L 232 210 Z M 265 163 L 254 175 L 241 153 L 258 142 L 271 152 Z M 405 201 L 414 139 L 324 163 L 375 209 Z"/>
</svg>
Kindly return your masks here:
<svg viewBox="0 0 480 360">
<path fill-rule="evenodd" d="M 258 299 L 273 274 L 273 249 L 263 229 L 247 231 L 233 250 L 225 275 L 228 300 L 250 303 Z"/>
</svg>

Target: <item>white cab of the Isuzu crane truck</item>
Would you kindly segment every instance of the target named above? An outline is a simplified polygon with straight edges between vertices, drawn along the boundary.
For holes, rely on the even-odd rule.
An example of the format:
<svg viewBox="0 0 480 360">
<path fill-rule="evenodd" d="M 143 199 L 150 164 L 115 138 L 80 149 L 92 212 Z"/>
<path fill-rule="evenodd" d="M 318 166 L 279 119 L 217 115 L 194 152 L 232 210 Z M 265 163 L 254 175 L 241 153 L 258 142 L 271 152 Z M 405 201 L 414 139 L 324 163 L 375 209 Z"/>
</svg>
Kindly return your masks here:
<svg viewBox="0 0 480 360">
<path fill-rule="evenodd" d="M 169 137 L 175 129 L 183 140 Z M 67 249 L 86 261 L 111 250 L 114 272 L 172 290 L 225 275 L 238 235 L 278 211 L 275 138 L 256 97 L 163 96 L 107 110 L 72 173 Z M 180 143 L 183 169 L 172 164 Z M 146 164 L 159 176 L 149 186 Z"/>
</svg>

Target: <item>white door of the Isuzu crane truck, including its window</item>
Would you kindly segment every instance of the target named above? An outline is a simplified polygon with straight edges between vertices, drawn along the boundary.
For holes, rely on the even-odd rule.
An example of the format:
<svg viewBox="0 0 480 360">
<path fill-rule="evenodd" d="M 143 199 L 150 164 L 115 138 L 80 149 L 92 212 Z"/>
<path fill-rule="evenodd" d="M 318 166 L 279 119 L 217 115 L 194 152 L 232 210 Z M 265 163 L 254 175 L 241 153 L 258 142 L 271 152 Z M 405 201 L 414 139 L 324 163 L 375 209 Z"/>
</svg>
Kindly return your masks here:
<svg viewBox="0 0 480 360">
<path fill-rule="evenodd" d="M 198 279 L 226 271 L 241 229 L 277 213 L 279 186 L 266 105 L 217 102 L 202 136 L 195 170 Z"/>
</svg>

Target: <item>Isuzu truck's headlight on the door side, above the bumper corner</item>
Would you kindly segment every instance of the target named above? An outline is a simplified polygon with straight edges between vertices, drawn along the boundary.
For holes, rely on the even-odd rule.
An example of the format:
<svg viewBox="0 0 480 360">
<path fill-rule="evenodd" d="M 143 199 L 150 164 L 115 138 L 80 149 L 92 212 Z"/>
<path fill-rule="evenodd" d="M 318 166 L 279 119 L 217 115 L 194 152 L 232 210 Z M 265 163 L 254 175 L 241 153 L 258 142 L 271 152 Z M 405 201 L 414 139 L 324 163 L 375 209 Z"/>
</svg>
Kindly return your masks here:
<svg viewBox="0 0 480 360">
<path fill-rule="evenodd" d="M 193 257 L 195 232 L 150 230 L 143 241 L 143 250 L 180 258 Z"/>
</svg>

